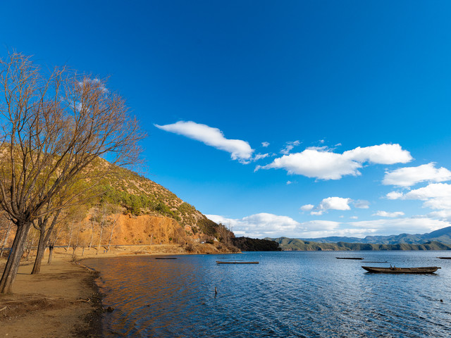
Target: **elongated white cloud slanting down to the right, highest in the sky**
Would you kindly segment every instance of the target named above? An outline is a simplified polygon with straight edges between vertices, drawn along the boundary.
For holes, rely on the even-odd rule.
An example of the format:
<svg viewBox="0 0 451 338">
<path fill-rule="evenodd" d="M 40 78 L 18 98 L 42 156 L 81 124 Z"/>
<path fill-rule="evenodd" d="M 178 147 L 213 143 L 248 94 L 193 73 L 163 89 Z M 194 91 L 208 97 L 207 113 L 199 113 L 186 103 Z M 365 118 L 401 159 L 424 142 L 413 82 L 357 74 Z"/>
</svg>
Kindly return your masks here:
<svg viewBox="0 0 451 338">
<path fill-rule="evenodd" d="M 252 160 L 254 149 L 251 148 L 249 143 L 240 139 L 226 139 L 223 132 L 218 128 L 194 123 L 192 121 L 179 121 L 171 125 L 155 125 L 155 127 L 166 130 L 166 132 L 173 132 L 189 137 L 190 139 L 195 139 L 208 146 L 214 146 L 216 149 L 228 151 L 233 160 L 238 160 L 241 163 L 249 163 L 249 161 Z M 259 154 L 259 156 L 261 156 L 261 154 Z"/>
</svg>

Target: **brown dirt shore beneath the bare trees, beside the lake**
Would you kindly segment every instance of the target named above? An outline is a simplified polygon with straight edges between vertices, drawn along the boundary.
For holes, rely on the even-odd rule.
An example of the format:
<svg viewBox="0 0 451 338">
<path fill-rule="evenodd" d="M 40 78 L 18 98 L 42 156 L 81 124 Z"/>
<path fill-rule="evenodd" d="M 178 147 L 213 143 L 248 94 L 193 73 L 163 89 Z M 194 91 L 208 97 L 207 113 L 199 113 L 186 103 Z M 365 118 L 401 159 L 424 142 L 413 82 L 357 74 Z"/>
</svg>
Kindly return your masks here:
<svg viewBox="0 0 451 338">
<path fill-rule="evenodd" d="M 217 253 L 213 245 L 204 244 L 194 250 Z M 13 294 L 0 295 L 0 338 L 101 337 L 101 295 L 97 292 L 96 271 L 83 265 L 83 258 L 161 255 L 187 253 L 176 245 L 117 246 L 107 251 L 101 247 L 82 251 L 54 249 L 51 265 L 49 252 L 42 261 L 41 273 L 30 275 L 32 254 L 20 265 Z M 75 261 L 75 262 L 74 262 Z M 5 259 L 0 258 L 0 272 Z"/>
</svg>

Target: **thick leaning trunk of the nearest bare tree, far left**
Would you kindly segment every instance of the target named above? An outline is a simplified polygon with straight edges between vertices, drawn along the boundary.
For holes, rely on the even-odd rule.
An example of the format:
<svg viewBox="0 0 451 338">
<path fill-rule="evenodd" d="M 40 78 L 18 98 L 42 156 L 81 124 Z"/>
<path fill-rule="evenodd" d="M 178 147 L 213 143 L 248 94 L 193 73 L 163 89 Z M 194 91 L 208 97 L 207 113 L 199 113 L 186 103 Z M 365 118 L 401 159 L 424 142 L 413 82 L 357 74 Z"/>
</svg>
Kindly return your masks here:
<svg viewBox="0 0 451 338">
<path fill-rule="evenodd" d="M 22 223 L 17 225 L 16 237 L 14 237 L 13 246 L 6 262 L 5 270 L 0 280 L 0 294 L 13 293 L 13 283 L 19 269 L 20 258 L 22 258 L 27 240 L 28 231 L 32 223 Z"/>
</svg>

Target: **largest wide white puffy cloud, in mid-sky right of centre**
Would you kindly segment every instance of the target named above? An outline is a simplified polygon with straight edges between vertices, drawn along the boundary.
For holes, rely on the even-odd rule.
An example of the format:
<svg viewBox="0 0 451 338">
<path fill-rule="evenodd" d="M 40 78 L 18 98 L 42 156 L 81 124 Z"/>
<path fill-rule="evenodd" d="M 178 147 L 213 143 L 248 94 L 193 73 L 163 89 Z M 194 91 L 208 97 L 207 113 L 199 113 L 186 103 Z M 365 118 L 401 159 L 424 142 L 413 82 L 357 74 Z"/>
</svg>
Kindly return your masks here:
<svg viewBox="0 0 451 338">
<path fill-rule="evenodd" d="M 301 153 L 284 155 L 268 165 L 258 165 L 256 170 L 283 168 L 290 175 L 304 175 L 321 180 L 340 180 L 344 175 L 361 175 L 363 163 L 394 164 L 412 161 L 409 151 L 399 144 L 358 147 L 343 154 L 325 148 L 309 148 Z"/>
</svg>

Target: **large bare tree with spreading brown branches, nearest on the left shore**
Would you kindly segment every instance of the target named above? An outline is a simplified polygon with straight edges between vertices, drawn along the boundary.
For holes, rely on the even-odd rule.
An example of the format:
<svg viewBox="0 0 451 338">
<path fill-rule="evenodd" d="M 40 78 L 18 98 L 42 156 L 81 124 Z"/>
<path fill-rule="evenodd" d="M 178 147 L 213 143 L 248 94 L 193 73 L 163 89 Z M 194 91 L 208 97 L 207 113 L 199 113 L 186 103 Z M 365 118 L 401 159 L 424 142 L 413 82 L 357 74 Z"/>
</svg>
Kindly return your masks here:
<svg viewBox="0 0 451 338">
<path fill-rule="evenodd" d="M 5 294 L 32 223 L 79 201 L 116 165 L 136 161 L 144 134 L 121 96 L 92 76 L 65 68 L 45 75 L 29 56 L 11 53 L 0 61 L 0 88 L 0 208 L 17 227 L 0 279 Z M 76 184 L 82 189 L 69 194 Z"/>
</svg>

